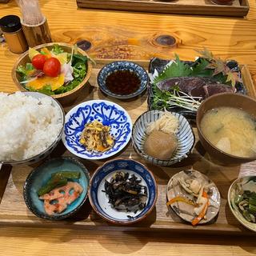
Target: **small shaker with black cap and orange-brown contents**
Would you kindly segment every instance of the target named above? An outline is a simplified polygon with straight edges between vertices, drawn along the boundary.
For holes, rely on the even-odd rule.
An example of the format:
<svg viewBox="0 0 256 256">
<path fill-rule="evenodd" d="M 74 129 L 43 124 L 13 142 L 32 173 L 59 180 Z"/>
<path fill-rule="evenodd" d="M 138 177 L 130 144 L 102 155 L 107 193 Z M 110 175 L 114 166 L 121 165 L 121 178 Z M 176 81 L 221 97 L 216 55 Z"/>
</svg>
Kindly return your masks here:
<svg viewBox="0 0 256 256">
<path fill-rule="evenodd" d="M 22 54 L 28 49 L 26 38 L 23 34 L 20 18 L 16 15 L 7 15 L 0 19 L 0 28 L 10 51 Z"/>
</svg>

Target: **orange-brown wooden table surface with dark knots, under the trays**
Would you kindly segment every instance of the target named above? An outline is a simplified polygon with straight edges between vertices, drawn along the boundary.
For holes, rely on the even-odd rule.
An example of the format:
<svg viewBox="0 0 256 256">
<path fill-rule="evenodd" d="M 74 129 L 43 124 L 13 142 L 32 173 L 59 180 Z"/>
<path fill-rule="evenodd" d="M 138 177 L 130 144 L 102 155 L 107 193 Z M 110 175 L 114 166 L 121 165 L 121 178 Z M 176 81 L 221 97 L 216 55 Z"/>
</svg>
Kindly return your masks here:
<svg viewBox="0 0 256 256">
<path fill-rule="evenodd" d="M 74 0 L 40 1 L 55 42 L 86 39 L 94 58 L 149 60 L 153 56 L 193 60 L 207 47 L 221 58 L 247 64 L 256 79 L 256 3 L 246 18 L 214 18 L 118 11 L 78 10 Z M 0 17 L 19 14 L 14 0 L 0 4 Z M 173 47 L 154 38 L 176 38 Z M 14 92 L 10 72 L 17 54 L 0 45 L 0 91 Z M 0 226 L 0 255 L 253 255 L 255 238 Z"/>
</svg>

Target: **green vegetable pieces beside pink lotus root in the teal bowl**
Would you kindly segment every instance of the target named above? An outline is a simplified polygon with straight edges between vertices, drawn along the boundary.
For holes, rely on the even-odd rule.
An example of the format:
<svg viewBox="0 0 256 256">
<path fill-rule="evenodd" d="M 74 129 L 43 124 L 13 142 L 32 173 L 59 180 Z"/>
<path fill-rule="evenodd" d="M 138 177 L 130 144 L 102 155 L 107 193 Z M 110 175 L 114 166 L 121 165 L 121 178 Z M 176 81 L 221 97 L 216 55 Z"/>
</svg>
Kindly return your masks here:
<svg viewBox="0 0 256 256">
<path fill-rule="evenodd" d="M 38 196 L 49 193 L 51 190 L 54 190 L 56 187 L 65 186 L 68 182 L 68 179 L 78 179 L 80 178 L 80 172 L 78 171 L 60 171 L 58 173 L 51 174 L 50 180 L 46 185 L 42 186 L 38 190 Z"/>
</svg>

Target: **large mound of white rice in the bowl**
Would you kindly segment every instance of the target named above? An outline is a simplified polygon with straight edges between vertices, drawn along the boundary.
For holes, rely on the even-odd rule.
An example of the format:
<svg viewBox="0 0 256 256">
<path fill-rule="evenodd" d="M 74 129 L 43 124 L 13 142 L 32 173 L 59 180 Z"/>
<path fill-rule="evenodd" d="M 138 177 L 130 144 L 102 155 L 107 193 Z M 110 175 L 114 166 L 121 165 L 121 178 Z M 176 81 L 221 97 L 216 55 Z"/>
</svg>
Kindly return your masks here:
<svg viewBox="0 0 256 256">
<path fill-rule="evenodd" d="M 0 93 L 0 160 L 19 161 L 42 153 L 58 137 L 61 116 L 48 97 Z"/>
</svg>

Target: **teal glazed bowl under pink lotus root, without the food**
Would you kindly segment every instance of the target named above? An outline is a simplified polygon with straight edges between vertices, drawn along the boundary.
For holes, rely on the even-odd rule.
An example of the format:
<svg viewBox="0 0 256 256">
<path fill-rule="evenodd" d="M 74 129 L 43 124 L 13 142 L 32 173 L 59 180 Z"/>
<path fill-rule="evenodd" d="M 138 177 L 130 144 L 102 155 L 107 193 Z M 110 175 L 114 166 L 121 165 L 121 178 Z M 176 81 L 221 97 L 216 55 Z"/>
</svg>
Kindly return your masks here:
<svg viewBox="0 0 256 256">
<path fill-rule="evenodd" d="M 43 200 L 38 198 L 38 190 L 46 184 L 51 174 L 57 173 L 58 171 L 79 171 L 80 178 L 74 180 L 69 179 L 69 181 L 78 182 L 80 186 L 82 186 L 83 191 L 80 197 L 72 202 L 61 214 L 48 215 L 44 210 Z M 78 160 L 74 158 L 54 158 L 32 170 L 26 178 L 23 196 L 26 206 L 39 218 L 60 220 L 76 213 L 81 208 L 82 204 L 86 202 L 89 182 L 90 174 L 81 162 L 78 162 Z"/>
</svg>

